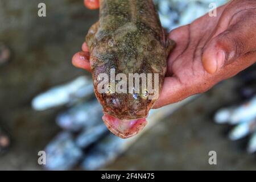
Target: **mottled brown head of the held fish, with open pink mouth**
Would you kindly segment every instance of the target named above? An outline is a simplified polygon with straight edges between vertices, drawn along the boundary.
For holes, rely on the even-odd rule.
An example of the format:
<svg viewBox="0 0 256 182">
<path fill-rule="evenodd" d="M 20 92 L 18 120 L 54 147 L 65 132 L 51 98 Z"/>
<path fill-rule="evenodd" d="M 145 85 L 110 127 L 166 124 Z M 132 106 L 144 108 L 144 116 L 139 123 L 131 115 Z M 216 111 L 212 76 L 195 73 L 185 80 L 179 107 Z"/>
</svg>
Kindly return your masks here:
<svg viewBox="0 0 256 182">
<path fill-rule="evenodd" d="M 133 137 L 146 126 L 148 111 L 158 99 L 155 97 L 156 89 L 150 92 L 147 86 L 143 86 L 145 84 L 142 78 L 146 77 L 148 85 L 148 73 L 151 74 L 151 86 L 157 85 L 157 90 L 160 90 L 166 69 L 166 62 L 160 61 L 166 60 L 160 43 L 156 40 L 149 41 L 145 36 L 139 38 L 130 34 L 122 36 L 122 39 L 120 34 L 118 37 L 105 36 L 98 39 L 90 52 L 94 92 L 104 109 L 103 120 L 109 130 L 121 138 Z M 162 62 L 164 64 L 160 64 Z M 155 73 L 160 73 L 158 84 L 155 84 Z M 137 79 L 133 77 L 135 75 L 139 77 L 137 80 L 139 86 L 135 85 Z M 134 79 L 134 85 L 129 84 L 130 76 Z M 126 85 L 120 84 L 124 77 L 126 77 L 124 81 Z M 99 88 L 101 90 L 104 88 L 104 92 Z"/>
</svg>

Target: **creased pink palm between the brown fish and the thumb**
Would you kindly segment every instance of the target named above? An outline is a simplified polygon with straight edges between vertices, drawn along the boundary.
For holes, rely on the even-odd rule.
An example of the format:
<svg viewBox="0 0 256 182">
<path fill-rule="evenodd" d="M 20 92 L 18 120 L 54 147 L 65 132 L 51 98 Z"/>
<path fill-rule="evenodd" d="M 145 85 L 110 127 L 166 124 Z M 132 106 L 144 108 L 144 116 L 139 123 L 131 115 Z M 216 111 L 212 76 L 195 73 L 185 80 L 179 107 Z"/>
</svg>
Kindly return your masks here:
<svg viewBox="0 0 256 182">
<path fill-rule="evenodd" d="M 207 20 L 208 18 L 211 20 Z M 164 84 L 168 86 L 164 86 L 161 95 L 173 92 L 175 96 L 172 97 L 171 101 L 164 101 L 164 98 L 160 97 L 159 105 L 164 105 L 164 102 L 183 100 L 189 96 L 188 93 L 197 93 L 199 90 L 197 88 L 202 88 L 202 85 L 204 88 L 200 90 L 203 92 L 214 84 L 205 82 L 212 75 L 205 71 L 202 55 L 204 46 L 211 40 L 217 22 L 218 18 L 205 15 L 187 26 L 176 28 L 170 33 L 170 38 L 175 40 L 177 46 L 167 62 L 167 75 Z M 217 82 L 217 80 L 215 81 Z"/>
</svg>

